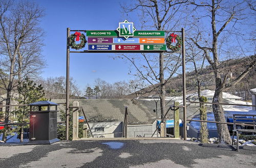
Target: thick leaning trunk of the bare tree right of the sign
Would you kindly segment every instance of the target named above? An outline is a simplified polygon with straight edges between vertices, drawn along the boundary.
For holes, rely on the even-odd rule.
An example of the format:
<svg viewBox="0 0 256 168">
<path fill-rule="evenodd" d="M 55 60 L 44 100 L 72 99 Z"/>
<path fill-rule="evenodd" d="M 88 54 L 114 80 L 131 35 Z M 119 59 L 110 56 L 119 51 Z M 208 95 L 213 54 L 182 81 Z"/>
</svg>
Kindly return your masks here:
<svg viewBox="0 0 256 168">
<path fill-rule="evenodd" d="M 215 79 L 216 83 L 216 89 L 215 94 L 212 99 L 213 103 L 222 103 L 222 90 L 221 90 L 221 77 L 218 74 Z M 220 104 L 212 104 L 212 109 L 214 111 L 214 117 L 215 121 L 219 122 L 226 122 L 225 116 L 224 116 L 224 110 L 222 108 L 222 105 Z M 231 144 L 231 137 L 228 131 L 227 124 L 216 124 L 217 130 L 219 134 L 219 139 L 221 144 Z"/>
</svg>

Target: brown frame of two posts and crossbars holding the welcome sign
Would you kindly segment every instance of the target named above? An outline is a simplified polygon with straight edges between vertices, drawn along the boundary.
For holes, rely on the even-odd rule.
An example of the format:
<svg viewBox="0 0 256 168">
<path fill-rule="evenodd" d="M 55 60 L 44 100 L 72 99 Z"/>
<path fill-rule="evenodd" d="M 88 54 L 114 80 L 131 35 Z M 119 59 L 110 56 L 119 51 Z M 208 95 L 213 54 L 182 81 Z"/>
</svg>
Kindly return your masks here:
<svg viewBox="0 0 256 168">
<path fill-rule="evenodd" d="M 84 33 L 86 33 L 87 30 L 70 30 L 69 27 L 67 28 L 66 140 L 69 139 L 69 116 L 70 116 L 70 114 L 69 114 L 69 108 L 70 108 L 70 106 L 69 106 L 69 100 L 70 100 L 70 90 L 69 90 L 69 87 L 70 87 L 70 81 L 69 81 L 70 74 L 69 74 L 69 72 L 70 72 L 70 53 L 163 53 L 163 52 L 164 53 L 167 53 L 167 52 L 173 53 L 172 51 L 167 51 L 167 50 L 83 50 L 83 51 L 70 51 L 70 32 L 84 32 Z M 184 31 L 184 28 L 182 28 L 181 31 L 164 31 L 164 32 L 165 33 L 179 32 L 179 33 L 182 34 L 183 106 L 180 106 L 180 107 L 183 107 L 183 132 L 184 132 L 184 140 L 186 140 L 186 138 L 187 138 L 187 134 L 186 134 L 186 75 L 185 75 L 186 72 L 185 72 L 185 43 L 184 43 L 185 42 L 185 31 Z M 95 36 L 95 37 L 98 37 L 98 36 Z M 111 37 L 111 36 L 109 36 L 109 37 Z M 152 45 L 152 44 L 148 44 L 148 45 Z M 155 44 L 153 44 L 153 45 L 155 45 Z"/>
</svg>

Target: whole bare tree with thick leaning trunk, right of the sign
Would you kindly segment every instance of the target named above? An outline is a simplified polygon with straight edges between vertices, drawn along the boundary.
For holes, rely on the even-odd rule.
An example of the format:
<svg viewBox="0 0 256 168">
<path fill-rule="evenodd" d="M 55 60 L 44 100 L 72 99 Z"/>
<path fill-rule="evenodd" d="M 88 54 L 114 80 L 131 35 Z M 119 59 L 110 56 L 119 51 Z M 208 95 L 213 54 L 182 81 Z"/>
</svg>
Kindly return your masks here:
<svg viewBox="0 0 256 168">
<path fill-rule="evenodd" d="M 193 26 L 191 29 L 195 31 L 194 34 L 190 35 L 190 39 L 204 52 L 204 57 L 214 70 L 215 95 L 212 102 L 221 103 L 223 101 L 223 91 L 239 83 L 256 64 L 254 56 L 248 57 L 245 70 L 234 79 L 230 78 L 230 73 L 236 70 L 231 69 L 228 64 L 225 64 L 225 67 L 222 67 L 224 64 L 221 64 L 225 60 L 238 58 L 242 55 L 240 54 L 241 51 L 237 50 L 237 47 L 233 47 L 231 41 L 236 41 L 239 37 L 236 35 L 242 33 L 239 32 L 241 31 L 239 27 L 243 26 L 241 21 L 244 19 L 246 7 L 243 1 L 212 0 L 211 3 L 202 2 L 197 4 L 193 2 L 191 4 L 195 7 L 194 14 L 196 14 L 196 16 L 192 15 L 193 18 L 191 20 L 196 22 L 191 22 L 190 24 Z M 249 49 L 249 47 L 247 46 L 246 49 Z M 255 49 L 255 46 L 252 46 L 252 48 Z M 215 120 L 225 122 L 222 106 L 214 104 L 212 107 Z M 217 129 L 220 143 L 230 144 L 231 138 L 227 125 L 217 124 Z"/>
</svg>

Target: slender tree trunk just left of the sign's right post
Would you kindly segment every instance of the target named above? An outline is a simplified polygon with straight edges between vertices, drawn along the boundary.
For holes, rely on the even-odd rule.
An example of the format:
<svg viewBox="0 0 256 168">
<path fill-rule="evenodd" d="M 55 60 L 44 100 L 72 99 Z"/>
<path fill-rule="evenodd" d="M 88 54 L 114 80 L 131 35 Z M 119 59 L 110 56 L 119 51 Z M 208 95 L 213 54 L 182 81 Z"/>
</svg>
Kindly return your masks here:
<svg viewBox="0 0 256 168">
<path fill-rule="evenodd" d="M 165 85 L 164 85 L 164 68 L 163 68 L 163 54 L 159 54 L 159 80 L 160 80 L 160 107 L 161 107 L 161 120 L 165 113 Z M 166 121 L 164 121 L 164 137 L 166 137 Z"/>
</svg>

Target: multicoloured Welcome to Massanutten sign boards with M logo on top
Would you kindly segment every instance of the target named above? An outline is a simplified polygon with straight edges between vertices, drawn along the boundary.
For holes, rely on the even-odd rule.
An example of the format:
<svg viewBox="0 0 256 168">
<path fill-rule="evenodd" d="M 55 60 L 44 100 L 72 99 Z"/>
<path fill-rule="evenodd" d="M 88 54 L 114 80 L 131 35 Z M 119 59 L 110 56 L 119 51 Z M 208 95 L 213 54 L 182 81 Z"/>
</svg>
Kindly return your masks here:
<svg viewBox="0 0 256 168">
<path fill-rule="evenodd" d="M 164 31 L 137 31 L 133 22 L 119 22 L 114 31 L 86 31 L 89 51 L 155 51 L 166 50 Z"/>
</svg>

